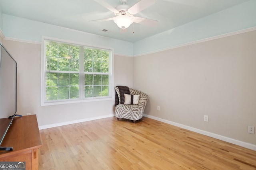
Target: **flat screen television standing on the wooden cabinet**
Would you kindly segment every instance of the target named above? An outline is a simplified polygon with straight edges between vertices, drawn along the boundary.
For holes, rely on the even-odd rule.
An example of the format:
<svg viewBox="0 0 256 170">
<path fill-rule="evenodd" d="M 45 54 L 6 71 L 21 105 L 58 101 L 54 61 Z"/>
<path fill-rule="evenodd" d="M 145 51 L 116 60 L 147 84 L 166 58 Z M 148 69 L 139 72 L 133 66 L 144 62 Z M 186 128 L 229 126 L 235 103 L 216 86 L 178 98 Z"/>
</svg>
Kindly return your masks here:
<svg viewBox="0 0 256 170">
<path fill-rule="evenodd" d="M 12 150 L 12 147 L 1 147 L 1 144 L 16 116 L 16 85 L 17 63 L 0 44 L 0 150 Z"/>
</svg>

